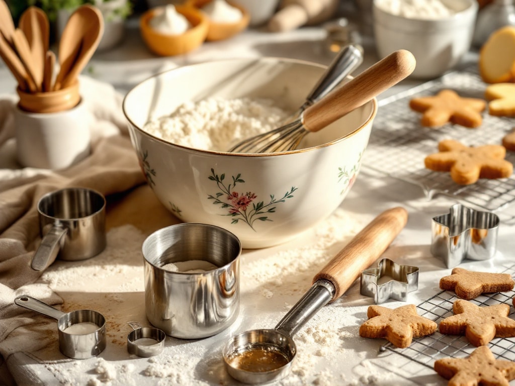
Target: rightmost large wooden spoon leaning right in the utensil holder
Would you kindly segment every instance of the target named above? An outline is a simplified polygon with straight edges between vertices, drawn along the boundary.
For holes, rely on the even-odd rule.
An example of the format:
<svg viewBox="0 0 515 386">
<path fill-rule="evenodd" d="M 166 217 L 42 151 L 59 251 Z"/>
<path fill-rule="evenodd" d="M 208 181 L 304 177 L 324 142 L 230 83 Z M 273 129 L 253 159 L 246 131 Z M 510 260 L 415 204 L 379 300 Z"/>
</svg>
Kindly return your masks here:
<svg viewBox="0 0 515 386">
<path fill-rule="evenodd" d="M 54 90 L 72 84 L 93 56 L 102 34 L 104 19 L 98 8 L 83 5 L 72 13 L 59 42 L 61 68 Z"/>
</svg>

